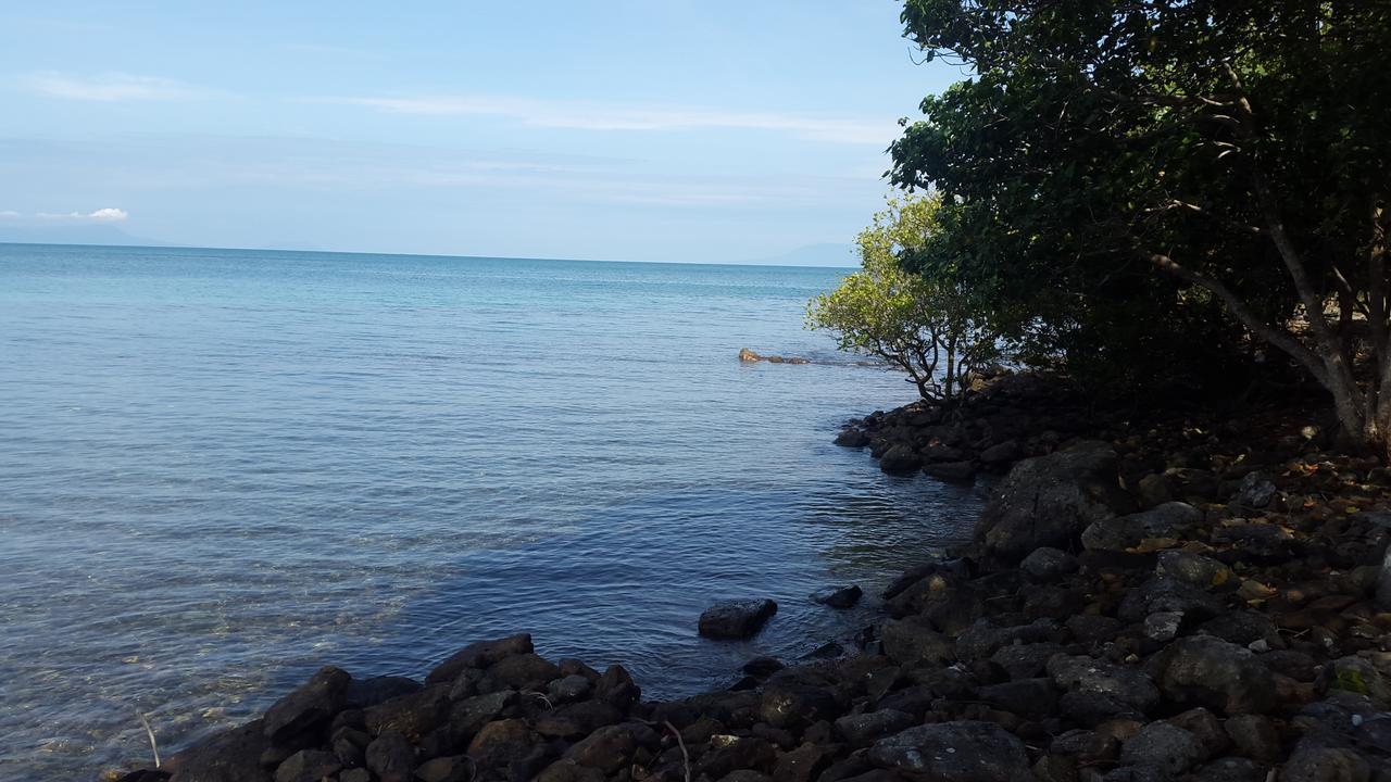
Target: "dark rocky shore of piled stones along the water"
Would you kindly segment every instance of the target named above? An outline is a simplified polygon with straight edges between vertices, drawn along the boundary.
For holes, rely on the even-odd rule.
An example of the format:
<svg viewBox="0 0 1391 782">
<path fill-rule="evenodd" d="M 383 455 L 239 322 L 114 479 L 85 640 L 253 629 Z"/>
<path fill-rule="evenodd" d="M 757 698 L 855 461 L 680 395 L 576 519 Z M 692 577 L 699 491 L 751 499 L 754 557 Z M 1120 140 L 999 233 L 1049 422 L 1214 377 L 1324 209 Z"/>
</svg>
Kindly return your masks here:
<svg viewBox="0 0 1391 782">
<path fill-rule="evenodd" d="M 1391 781 L 1391 473 L 1324 448 L 1305 409 L 1097 413 L 1025 376 L 875 413 L 837 441 L 886 472 L 1003 477 L 974 543 L 876 596 L 855 654 L 655 703 L 517 635 L 421 680 L 324 668 L 121 779 Z"/>
</svg>

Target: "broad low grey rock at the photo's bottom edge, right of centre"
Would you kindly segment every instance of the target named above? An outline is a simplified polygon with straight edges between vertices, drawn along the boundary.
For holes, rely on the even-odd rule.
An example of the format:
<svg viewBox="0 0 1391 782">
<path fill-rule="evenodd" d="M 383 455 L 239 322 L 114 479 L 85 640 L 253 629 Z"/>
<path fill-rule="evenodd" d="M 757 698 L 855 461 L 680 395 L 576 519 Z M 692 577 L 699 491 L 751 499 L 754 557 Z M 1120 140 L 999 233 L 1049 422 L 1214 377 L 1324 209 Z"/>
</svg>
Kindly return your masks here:
<svg viewBox="0 0 1391 782">
<path fill-rule="evenodd" d="M 993 722 L 918 725 L 869 749 L 881 768 L 943 782 L 1015 782 L 1029 778 L 1024 743 Z"/>
</svg>

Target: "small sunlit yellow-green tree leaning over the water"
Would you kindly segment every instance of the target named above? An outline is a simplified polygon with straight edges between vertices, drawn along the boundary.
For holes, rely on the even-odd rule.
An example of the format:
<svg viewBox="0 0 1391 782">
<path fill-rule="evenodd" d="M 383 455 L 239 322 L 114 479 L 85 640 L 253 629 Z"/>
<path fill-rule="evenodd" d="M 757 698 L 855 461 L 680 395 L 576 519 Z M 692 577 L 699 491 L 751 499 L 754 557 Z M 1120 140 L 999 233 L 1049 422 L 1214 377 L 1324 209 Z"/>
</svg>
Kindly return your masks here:
<svg viewBox="0 0 1391 782">
<path fill-rule="evenodd" d="M 950 401 L 972 369 L 1000 356 L 999 340 L 963 289 L 910 274 L 897 255 L 935 230 L 939 199 L 890 198 L 857 238 L 861 270 L 807 305 L 807 326 L 836 333 L 843 351 L 878 356 L 908 374 L 924 399 Z"/>
</svg>

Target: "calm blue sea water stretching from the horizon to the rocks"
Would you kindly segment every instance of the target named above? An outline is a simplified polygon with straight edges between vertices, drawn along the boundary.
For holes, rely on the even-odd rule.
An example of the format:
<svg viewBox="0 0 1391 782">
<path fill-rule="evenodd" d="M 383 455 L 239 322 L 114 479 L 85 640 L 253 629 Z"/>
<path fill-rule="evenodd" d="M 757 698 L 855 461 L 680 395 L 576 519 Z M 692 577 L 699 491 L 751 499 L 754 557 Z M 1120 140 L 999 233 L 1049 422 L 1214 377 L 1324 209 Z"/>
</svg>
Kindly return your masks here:
<svg viewBox="0 0 1391 782">
<path fill-rule="evenodd" d="M 839 274 L 0 245 L 0 778 L 516 630 L 655 696 L 849 636 L 869 608 L 807 594 L 882 584 L 978 500 L 830 444 L 912 398 L 801 328 Z M 761 636 L 696 636 L 754 596 Z"/>
</svg>

